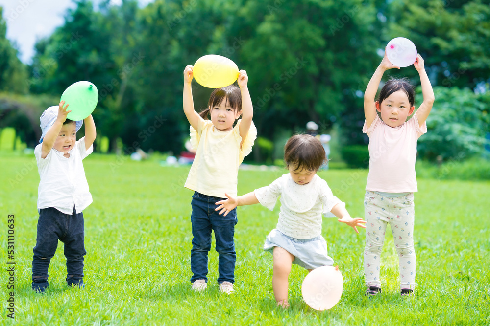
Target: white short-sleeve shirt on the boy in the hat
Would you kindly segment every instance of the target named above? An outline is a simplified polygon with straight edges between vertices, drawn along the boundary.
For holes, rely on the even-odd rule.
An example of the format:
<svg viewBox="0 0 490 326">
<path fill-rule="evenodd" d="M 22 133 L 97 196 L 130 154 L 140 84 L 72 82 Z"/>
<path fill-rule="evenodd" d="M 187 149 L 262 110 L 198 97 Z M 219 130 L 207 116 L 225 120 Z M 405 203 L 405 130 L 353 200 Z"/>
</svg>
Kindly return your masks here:
<svg viewBox="0 0 490 326">
<path fill-rule="evenodd" d="M 64 157 L 63 152 L 52 148 L 46 158 L 42 158 L 42 145 L 34 149 L 41 177 L 37 208 L 54 207 L 62 213 L 72 214 L 74 206 L 76 213 L 80 213 L 92 203 L 82 159 L 92 153 L 94 147 L 91 145 L 85 150 L 85 137 L 82 137 L 75 142 L 70 157 Z"/>
</svg>

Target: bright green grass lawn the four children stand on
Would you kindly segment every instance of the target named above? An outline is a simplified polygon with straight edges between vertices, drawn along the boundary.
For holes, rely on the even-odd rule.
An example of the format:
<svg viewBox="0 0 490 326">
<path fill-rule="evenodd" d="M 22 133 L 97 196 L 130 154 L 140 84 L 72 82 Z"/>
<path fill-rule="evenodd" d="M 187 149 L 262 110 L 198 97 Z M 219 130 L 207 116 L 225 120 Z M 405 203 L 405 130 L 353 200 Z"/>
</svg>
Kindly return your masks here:
<svg viewBox="0 0 490 326">
<path fill-rule="evenodd" d="M 301 297 L 304 269 L 293 266 L 291 308 L 275 307 L 272 257 L 262 251 L 273 212 L 238 208 L 236 292 L 218 292 L 218 255 L 210 252 L 209 285 L 190 289 L 189 167 L 90 155 L 84 160 L 94 202 L 84 211 L 84 290 L 65 285 L 63 244 L 49 266 L 49 292 L 31 290 L 39 174 L 33 156 L 0 155 L 1 325 L 490 325 L 490 182 L 418 179 L 415 239 L 417 296 L 398 293 L 398 259 L 387 236 L 383 294 L 364 296 L 364 229 L 359 235 L 324 218 L 322 235 L 343 273 L 341 301 L 328 311 Z M 285 171 L 240 171 L 239 194 Z M 352 217 L 363 217 L 367 171 L 320 172 Z M 15 215 L 15 322 L 7 317 L 7 215 Z M 389 233 L 387 232 L 387 235 Z M 213 245 L 214 248 L 214 245 Z"/>
</svg>

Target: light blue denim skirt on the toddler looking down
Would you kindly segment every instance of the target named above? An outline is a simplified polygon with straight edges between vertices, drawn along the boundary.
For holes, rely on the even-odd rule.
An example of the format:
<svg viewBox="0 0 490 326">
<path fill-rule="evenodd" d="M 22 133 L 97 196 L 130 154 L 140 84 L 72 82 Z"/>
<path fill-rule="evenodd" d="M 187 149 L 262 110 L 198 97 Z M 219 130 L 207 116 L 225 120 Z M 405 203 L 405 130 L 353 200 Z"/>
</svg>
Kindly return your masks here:
<svg viewBox="0 0 490 326">
<path fill-rule="evenodd" d="M 334 260 L 327 254 L 327 242 L 322 236 L 312 239 L 296 239 L 273 229 L 267 236 L 264 250 L 273 254 L 274 247 L 281 247 L 289 252 L 294 256 L 293 263 L 306 269 L 334 264 Z"/>
</svg>

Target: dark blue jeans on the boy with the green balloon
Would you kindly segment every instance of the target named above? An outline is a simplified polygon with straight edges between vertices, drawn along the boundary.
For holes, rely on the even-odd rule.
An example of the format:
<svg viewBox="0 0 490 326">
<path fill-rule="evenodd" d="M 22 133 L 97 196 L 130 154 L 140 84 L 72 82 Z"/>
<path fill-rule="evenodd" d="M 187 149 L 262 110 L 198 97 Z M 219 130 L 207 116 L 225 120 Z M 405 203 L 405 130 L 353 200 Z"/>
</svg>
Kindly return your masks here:
<svg viewBox="0 0 490 326">
<path fill-rule="evenodd" d="M 71 215 L 56 208 L 41 208 L 37 222 L 37 239 L 32 257 L 32 287 L 48 287 L 48 267 L 53 258 L 58 239 L 65 243 L 65 257 L 68 285 L 83 284 L 83 256 L 87 254 L 84 246 L 85 231 L 83 213 L 76 214 L 73 207 Z"/>
</svg>

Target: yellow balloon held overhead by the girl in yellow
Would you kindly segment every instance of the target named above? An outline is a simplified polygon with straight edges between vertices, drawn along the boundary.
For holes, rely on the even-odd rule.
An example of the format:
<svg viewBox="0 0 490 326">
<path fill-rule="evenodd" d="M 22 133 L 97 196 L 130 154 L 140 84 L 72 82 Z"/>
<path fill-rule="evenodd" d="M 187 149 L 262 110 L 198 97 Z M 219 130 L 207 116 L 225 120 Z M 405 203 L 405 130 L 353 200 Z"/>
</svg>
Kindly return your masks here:
<svg viewBox="0 0 490 326">
<path fill-rule="evenodd" d="M 238 66 L 230 59 L 208 54 L 197 59 L 193 69 L 196 82 L 204 87 L 221 88 L 233 84 L 238 78 Z"/>
</svg>

